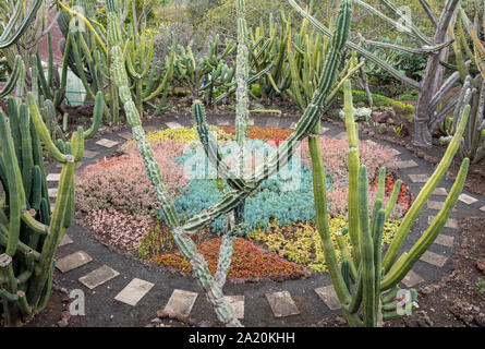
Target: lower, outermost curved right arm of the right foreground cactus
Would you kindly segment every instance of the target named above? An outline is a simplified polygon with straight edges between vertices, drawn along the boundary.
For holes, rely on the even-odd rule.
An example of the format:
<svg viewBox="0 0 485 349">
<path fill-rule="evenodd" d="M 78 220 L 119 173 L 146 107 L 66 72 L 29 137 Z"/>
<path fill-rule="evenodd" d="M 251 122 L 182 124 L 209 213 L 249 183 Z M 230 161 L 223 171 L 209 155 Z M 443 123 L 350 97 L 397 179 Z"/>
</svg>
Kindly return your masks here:
<svg viewBox="0 0 485 349">
<path fill-rule="evenodd" d="M 454 204 L 458 201 L 458 196 L 463 190 L 464 181 L 466 179 L 466 173 L 469 169 L 470 160 L 468 158 L 463 159 L 460 171 L 458 172 L 457 179 L 450 190 L 450 194 L 445 201 L 444 207 L 440 209 L 438 215 L 435 217 L 428 229 L 423 233 L 420 240 L 411 248 L 408 254 L 403 254 L 404 257 L 401 258 L 399 267 L 392 267 L 388 274 L 385 275 L 380 288 L 383 290 L 389 289 L 392 286 L 400 282 L 405 275 L 411 270 L 414 263 L 423 255 L 427 248 L 435 241 L 439 231 L 445 226 Z"/>
</svg>

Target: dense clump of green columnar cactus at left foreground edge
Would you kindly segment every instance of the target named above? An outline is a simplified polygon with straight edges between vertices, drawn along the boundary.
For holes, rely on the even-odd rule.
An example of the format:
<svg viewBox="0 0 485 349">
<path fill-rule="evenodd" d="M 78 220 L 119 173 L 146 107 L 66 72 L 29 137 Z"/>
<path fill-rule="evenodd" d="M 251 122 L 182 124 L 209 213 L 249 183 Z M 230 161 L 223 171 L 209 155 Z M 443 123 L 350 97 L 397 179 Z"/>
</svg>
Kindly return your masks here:
<svg viewBox="0 0 485 349">
<path fill-rule="evenodd" d="M 8 112 L 9 121 L 0 112 L 0 182 L 7 197 L 0 207 L 0 298 L 4 324 L 15 326 L 49 300 L 56 251 L 74 214 L 74 171 L 84 132 L 73 134 L 64 153 L 59 149 L 33 93 L 28 107 L 9 97 Z M 63 164 L 52 214 L 40 141 Z"/>
</svg>

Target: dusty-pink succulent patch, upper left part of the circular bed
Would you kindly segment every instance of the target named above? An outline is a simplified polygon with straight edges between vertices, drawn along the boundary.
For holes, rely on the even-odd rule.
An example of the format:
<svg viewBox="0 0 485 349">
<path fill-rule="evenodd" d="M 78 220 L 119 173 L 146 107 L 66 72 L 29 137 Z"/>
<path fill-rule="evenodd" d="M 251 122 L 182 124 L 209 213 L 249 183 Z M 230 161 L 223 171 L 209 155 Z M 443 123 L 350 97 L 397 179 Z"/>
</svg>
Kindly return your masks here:
<svg viewBox="0 0 485 349">
<path fill-rule="evenodd" d="M 76 177 L 76 205 L 81 212 L 112 208 L 135 217 L 157 215 L 155 190 L 140 153 L 134 146 L 124 151 L 122 156 L 87 166 Z M 175 163 L 175 157 L 182 155 L 183 144 L 167 140 L 155 144 L 154 152 L 167 190 L 179 196 L 187 185 L 182 166 Z"/>
</svg>

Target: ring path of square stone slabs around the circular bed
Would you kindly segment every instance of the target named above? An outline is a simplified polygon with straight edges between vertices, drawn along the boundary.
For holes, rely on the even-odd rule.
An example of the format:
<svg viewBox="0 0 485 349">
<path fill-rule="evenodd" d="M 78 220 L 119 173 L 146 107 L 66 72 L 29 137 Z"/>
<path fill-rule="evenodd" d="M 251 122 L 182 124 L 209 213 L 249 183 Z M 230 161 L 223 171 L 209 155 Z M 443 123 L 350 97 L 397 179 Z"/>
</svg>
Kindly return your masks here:
<svg viewBox="0 0 485 349">
<path fill-rule="evenodd" d="M 208 120 L 217 122 L 218 125 L 234 124 L 233 120 L 223 117 L 209 116 Z M 255 118 L 252 121 L 262 128 L 294 129 L 295 127 L 294 119 L 278 117 Z M 168 128 L 180 129 L 191 124 L 193 122 L 186 118 L 166 121 L 157 119 L 144 127 L 147 132 L 153 132 Z M 322 128 L 320 134 L 347 139 L 347 133 L 336 125 Z M 130 131 L 122 130 L 87 141 L 80 169 L 109 156 L 116 152 L 117 146 L 130 139 L 132 139 Z M 366 142 L 376 144 L 371 140 Z M 399 176 L 407 182 L 415 197 L 434 168 L 405 148 L 390 146 L 399 157 Z M 53 202 L 60 170 L 57 166 L 50 166 L 47 170 L 49 196 Z M 433 221 L 451 184 L 452 181 L 446 178 L 441 180 L 414 225 L 403 251 L 409 250 Z M 466 215 L 483 215 L 484 212 L 484 197 L 463 192 L 441 234 L 409 273 L 402 282 L 403 286 L 420 287 L 445 276 L 448 273 L 446 266 L 450 256 L 461 240 L 458 221 Z M 204 297 L 198 297 L 203 296 L 203 292 L 193 278 L 173 275 L 163 268 L 148 268 L 137 261 L 128 260 L 107 249 L 77 225 L 73 225 L 69 234 L 63 237 L 56 266 L 60 273 L 56 273 L 56 279 L 61 285 L 69 289 L 81 288 L 86 291 L 86 303 L 92 304 L 90 314 L 86 315 L 88 325 L 142 326 L 155 317 L 159 309 L 185 316 L 199 316 L 202 320 L 214 317 L 210 304 Z M 286 282 L 262 281 L 244 285 L 229 282 L 225 292 L 232 294 L 227 298 L 233 305 L 237 317 L 247 326 L 281 326 L 295 323 L 310 325 L 326 315 L 340 314 L 340 303 L 328 275 Z M 124 318 L 121 314 L 126 313 L 130 313 L 130 316 Z M 116 316 L 122 318 L 114 321 Z"/>
</svg>

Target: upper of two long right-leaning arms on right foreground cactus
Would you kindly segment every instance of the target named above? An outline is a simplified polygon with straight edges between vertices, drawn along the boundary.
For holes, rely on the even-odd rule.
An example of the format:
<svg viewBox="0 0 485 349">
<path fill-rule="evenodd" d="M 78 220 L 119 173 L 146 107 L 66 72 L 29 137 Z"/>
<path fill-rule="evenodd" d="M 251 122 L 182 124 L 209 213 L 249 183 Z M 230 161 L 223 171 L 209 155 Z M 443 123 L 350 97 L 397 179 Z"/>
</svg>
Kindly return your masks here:
<svg viewBox="0 0 485 349">
<path fill-rule="evenodd" d="M 423 189 L 421 190 L 416 200 L 411 205 L 411 208 L 409 209 L 408 214 L 403 218 L 403 220 L 399 227 L 399 230 L 396 233 L 395 239 L 390 243 L 390 245 L 387 250 L 387 253 L 383 260 L 383 267 L 386 272 L 388 272 L 390 269 L 391 264 L 396 261 L 396 257 L 397 257 L 399 251 L 401 250 L 401 246 L 404 243 L 404 240 L 408 237 L 408 233 L 409 233 L 412 225 L 414 224 L 415 219 L 417 218 L 417 215 L 421 213 L 421 209 L 423 208 L 426 200 L 432 195 L 433 191 L 438 185 L 442 176 L 449 168 L 451 160 L 454 157 L 454 154 L 457 153 L 458 148 L 460 147 L 461 137 L 462 137 L 464 129 L 466 127 L 469 113 L 470 113 L 470 107 L 468 106 L 463 111 L 463 115 L 461 117 L 457 132 L 454 133 L 453 139 L 451 140 L 450 144 L 448 145 L 448 148 L 446 149 L 446 153 L 445 153 L 441 161 L 438 164 L 438 166 L 436 167 L 432 177 L 426 182 L 426 184 L 423 186 Z"/>
</svg>

